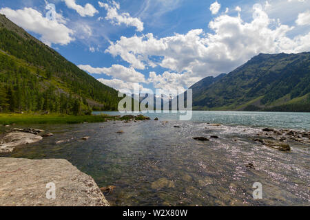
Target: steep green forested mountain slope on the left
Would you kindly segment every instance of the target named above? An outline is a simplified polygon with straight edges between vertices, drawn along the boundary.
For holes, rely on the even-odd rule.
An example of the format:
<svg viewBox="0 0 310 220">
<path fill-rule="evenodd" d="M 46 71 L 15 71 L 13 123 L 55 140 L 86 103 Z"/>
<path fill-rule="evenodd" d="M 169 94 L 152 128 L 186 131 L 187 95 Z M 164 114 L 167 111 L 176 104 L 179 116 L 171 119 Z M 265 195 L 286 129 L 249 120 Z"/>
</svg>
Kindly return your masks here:
<svg viewBox="0 0 310 220">
<path fill-rule="evenodd" d="M 117 95 L 0 14 L 0 111 L 116 110 Z"/>
</svg>

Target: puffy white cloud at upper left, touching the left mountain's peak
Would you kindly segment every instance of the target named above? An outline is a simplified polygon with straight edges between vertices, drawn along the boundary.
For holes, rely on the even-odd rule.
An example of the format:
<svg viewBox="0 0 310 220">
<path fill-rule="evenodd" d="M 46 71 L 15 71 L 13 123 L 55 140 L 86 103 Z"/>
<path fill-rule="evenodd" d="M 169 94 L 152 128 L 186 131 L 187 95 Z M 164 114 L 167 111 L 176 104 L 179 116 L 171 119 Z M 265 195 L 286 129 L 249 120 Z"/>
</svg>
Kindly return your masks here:
<svg viewBox="0 0 310 220">
<path fill-rule="evenodd" d="M 23 10 L 1 8 L 0 13 L 5 14 L 8 19 L 25 30 L 40 34 L 40 40 L 47 45 L 52 43 L 67 45 L 74 41 L 73 31 L 65 26 L 65 20 L 60 14 L 56 14 L 56 20 L 50 21 L 43 17 L 41 12 L 32 8 L 23 8 Z"/>
</svg>

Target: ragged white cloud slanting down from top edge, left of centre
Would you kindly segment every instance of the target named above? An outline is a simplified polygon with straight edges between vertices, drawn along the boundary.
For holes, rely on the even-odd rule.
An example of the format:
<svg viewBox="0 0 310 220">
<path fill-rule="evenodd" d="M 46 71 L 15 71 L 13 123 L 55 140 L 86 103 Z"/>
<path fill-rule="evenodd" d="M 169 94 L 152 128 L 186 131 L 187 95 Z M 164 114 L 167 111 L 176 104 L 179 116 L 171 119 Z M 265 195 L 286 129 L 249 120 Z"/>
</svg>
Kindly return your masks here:
<svg viewBox="0 0 310 220">
<path fill-rule="evenodd" d="M 101 8 L 105 8 L 107 10 L 107 16 L 105 17 L 106 20 L 110 20 L 114 25 L 121 25 L 122 23 L 125 24 L 127 27 L 136 27 L 138 32 L 143 31 L 143 22 L 140 21 L 138 18 L 130 17 L 130 14 L 124 12 L 122 14 L 118 14 L 118 10 L 120 9 L 120 5 L 115 1 L 112 1 L 112 5 L 108 5 L 107 3 L 102 3 L 101 1 L 98 2 Z"/>
</svg>

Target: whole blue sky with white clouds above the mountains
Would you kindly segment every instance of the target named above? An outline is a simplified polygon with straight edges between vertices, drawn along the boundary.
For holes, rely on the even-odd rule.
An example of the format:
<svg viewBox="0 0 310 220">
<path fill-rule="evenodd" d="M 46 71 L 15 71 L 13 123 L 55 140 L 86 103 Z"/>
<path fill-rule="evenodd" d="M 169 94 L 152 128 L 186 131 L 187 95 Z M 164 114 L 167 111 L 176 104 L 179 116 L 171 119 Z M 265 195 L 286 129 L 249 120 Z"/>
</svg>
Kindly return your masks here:
<svg viewBox="0 0 310 220">
<path fill-rule="evenodd" d="M 310 0 L 1 0 L 0 13 L 123 92 L 183 92 L 260 53 L 310 51 Z"/>
</svg>

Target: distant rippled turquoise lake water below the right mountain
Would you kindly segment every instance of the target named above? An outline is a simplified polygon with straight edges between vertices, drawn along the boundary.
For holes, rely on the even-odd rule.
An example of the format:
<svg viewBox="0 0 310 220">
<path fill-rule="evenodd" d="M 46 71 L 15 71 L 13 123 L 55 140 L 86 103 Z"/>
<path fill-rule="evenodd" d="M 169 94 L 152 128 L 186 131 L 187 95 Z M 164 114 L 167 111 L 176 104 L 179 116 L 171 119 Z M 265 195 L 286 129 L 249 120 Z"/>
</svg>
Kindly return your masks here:
<svg viewBox="0 0 310 220">
<path fill-rule="evenodd" d="M 120 115 L 118 112 L 94 112 Z M 135 114 L 132 114 L 135 115 Z M 179 120 L 177 113 L 145 113 L 150 118 Z M 249 111 L 193 111 L 192 122 L 210 122 L 245 126 L 270 126 L 282 129 L 310 130 L 310 113 L 249 112 Z"/>
</svg>

